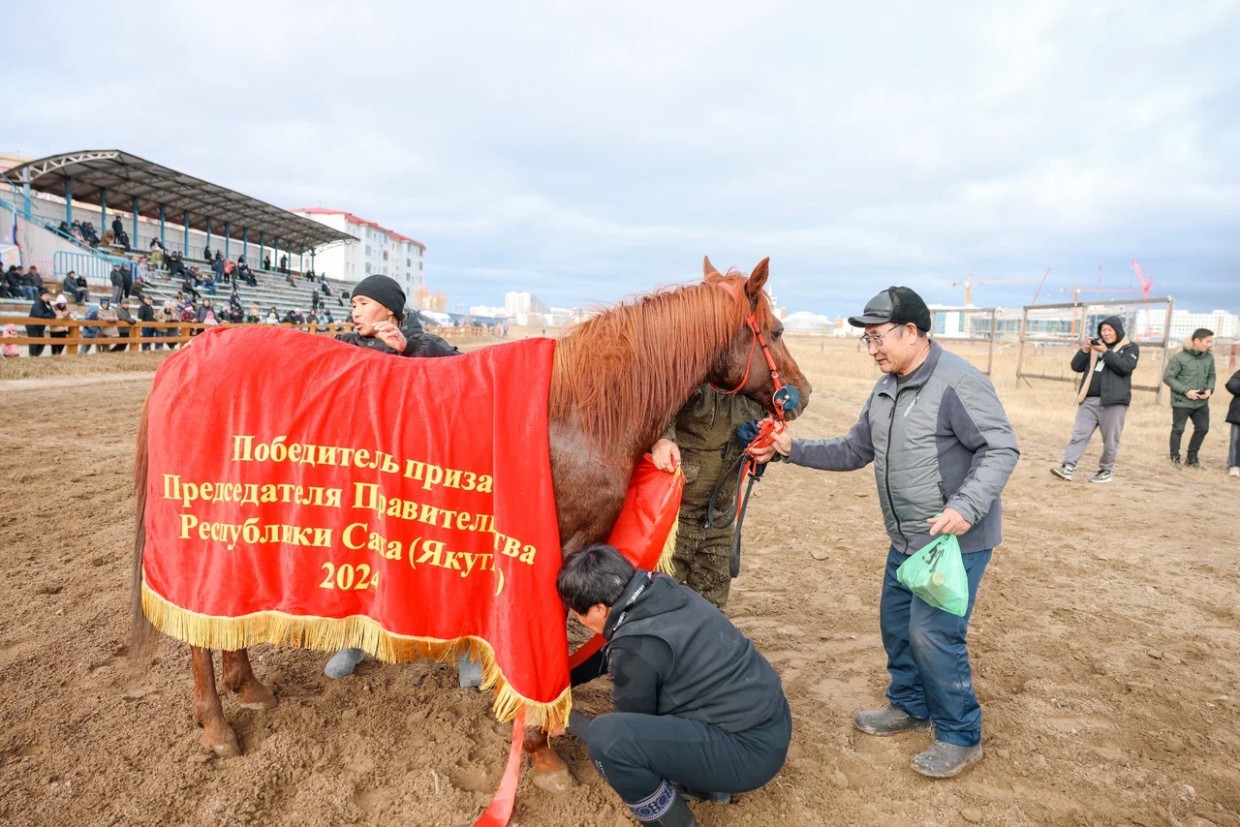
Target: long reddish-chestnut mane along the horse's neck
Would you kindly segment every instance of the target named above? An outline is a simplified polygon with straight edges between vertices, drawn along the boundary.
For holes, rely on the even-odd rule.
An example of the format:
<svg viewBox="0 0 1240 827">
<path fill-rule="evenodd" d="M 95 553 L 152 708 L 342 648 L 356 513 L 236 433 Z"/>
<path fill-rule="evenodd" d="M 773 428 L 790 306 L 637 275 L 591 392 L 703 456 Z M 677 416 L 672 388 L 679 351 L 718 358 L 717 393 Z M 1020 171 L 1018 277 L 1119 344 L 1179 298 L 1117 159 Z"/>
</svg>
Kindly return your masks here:
<svg viewBox="0 0 1240 827">
<path fill-rule="evenodd" d="M 743 274 L 712 274 L 572 327 L 556 347 L 552 422 L 574 417 L 604 446 L 615 445 L 625 422 L 665 427 L 744 324 L 744 286 Z"/>
</svg>

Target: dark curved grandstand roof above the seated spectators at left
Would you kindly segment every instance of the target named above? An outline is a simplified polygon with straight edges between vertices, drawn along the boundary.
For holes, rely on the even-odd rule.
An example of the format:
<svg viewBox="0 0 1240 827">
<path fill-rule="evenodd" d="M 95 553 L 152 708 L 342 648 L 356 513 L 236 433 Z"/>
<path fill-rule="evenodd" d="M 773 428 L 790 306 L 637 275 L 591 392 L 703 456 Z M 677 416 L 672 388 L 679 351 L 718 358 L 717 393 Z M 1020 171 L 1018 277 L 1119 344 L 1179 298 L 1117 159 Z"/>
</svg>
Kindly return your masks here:
<svg viewBox="0 0 1240 827">
<path fill-rule="evenodd" d="M 38 192 L 63 198 L 66 182 L 72 181 L 73 201 L 99 206 L 99 188 L 103 187 L 109 206 L 119 212 L 130 212 L 136 197 L 138 214 L 146 218 L 157 221 L 162 205 L 167 221 L 180 226 L 184 213 L 188 211 L 193 229 L 206 231 L 210 218 L 213 236 L 223 237 L 227 222 L 231 236 L 241 239 L 242 229 L 248 227 L 252 239 L 254 233 L 262 231 L 269 244 L 279 238 L 280 249 L 290 253 L 304 253 L 334 242 L 357 241 L 348 233 L 295 216 L 265 201 L 115 149 L 41 157 L 6 170 L 4 177 L 20 186 L 24 184 L 22 175 L 27 172 L 31 188 Z"/>
</svg>

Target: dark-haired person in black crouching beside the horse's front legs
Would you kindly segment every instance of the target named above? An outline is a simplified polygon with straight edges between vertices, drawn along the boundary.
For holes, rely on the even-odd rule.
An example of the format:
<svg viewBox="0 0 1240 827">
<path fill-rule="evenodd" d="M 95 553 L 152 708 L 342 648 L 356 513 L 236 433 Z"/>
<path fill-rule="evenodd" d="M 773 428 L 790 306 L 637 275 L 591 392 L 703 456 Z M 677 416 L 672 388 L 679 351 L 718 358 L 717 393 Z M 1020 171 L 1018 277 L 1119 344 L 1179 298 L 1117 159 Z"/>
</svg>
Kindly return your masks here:
<svg viewBox="0 0 1240 827">
<path fill-rule="evenodd" d="M 604 544 L 569 557 L 556 585 L 564 606 L 608 640 L 573 683 L 610 672 L 615 704 L 594 718 L 574 709 L 568 732 L 637 821 L 693 827 L 682 792 L 727 801 L 775 777 L 792 735 L 787 699 L 771 665 L 718 609 Z"/>
</svg>

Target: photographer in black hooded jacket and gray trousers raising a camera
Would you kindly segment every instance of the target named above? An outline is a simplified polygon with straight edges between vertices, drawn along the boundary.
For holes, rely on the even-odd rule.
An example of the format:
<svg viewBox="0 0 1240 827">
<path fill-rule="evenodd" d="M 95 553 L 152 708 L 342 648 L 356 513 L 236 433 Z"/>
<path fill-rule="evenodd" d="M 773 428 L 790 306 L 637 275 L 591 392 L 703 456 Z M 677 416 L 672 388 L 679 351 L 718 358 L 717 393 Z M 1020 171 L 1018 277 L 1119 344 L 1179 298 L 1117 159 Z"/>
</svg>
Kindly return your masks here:
<svg viewBox="0 0 1240 827">
<path fill-rule="evenodd" d="M 1090 438 L 1095 430 L 1101 430 L 1102 455 L 1097 460 L 1097 474 L 1089 481 L 1111 481 L 1123 419 L 1132 402 L 1132 372 L 1137 369 L 1140 356 L 1141 347 L 1123 337 L 1123 321 L 1118 316 L 1104 319 L 1097 326 L 1097 338 L 1083 341 L 1073 355 L 1073 371 L 1083 376 L 1076 393 L 1076 422 L 1064 461 L 1050 469 L 1060 480 L 1073 479 Z"/>
</svg>

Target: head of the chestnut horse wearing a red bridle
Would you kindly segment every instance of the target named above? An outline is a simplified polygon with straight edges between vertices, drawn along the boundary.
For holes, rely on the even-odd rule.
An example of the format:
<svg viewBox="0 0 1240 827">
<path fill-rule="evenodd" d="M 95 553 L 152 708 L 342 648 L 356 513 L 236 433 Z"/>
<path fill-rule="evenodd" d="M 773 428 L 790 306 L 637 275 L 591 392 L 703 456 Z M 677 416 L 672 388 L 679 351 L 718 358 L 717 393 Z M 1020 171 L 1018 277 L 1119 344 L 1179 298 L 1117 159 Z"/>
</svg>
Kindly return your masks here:
<svg viewBox="0 0 1240 827">
<path fill-rule="evenodd" d="M 764 258 L 749 276 L 729 270 L 720 274 L 711 259 L 703 262 L 706 283 L 718 285 L 737 305 L 742 319 L 732 342 L 719 356 L 707 377 L 717 388 L 743 393 L 768 410 L 775 410 L 776 381 L 796 388 L 800 404 L 785 408 L 792 419 L 810 404 L 812 387 L 784 343 L 784 325 L 775 317 L 764 290 L 770 275 L 770 259 Z M 769 358 L 768 358 L 769 357 Z M 786 396 L 786 392 L 785 392 Z"/>
</svg>

